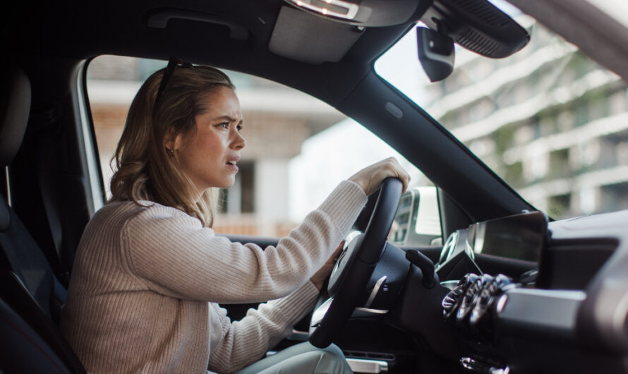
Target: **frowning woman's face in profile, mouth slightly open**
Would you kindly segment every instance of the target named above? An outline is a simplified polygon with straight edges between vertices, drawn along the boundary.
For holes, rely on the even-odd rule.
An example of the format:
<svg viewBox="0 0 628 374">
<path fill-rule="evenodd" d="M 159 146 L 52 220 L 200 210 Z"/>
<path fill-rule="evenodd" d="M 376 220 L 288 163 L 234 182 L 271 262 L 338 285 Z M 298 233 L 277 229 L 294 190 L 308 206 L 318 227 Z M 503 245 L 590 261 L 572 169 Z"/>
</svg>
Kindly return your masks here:
<svg viewBox="0 0 628 374">
<path fill-rule="evenodd" d="M 207 188 L 233 186 L 246 141 L 240 134 L 242 113 L 231 88 L 220 87 L 203 98 L 206 111 L 196 116 L 196 128 L 179 134 L 174 154 L 179 166 L 192 180 L 198 194 Z M 172 145 L 167 142 L 166 147 Z"/>
</svg>

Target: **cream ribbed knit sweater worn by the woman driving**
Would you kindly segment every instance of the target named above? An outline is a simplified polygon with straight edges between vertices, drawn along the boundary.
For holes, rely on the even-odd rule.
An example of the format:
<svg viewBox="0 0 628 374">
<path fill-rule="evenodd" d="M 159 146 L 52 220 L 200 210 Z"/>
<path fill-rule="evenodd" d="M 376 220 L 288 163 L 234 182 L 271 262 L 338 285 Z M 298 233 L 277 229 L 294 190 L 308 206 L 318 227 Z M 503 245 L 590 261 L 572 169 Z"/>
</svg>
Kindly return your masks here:
<svg viewBox="0 0 628 374">
<path fill-rule="evenodd" d="M 308 279 L 365 203 L 343 181 L 265 250 L 215 236 L 172 207 L 107 204 L 81 239 L 61 330 L 90 373 L 238 370 L 312 308 L 318 290 Z M 267 300 L 238 322 L 217 304 Z"/>
</svg>

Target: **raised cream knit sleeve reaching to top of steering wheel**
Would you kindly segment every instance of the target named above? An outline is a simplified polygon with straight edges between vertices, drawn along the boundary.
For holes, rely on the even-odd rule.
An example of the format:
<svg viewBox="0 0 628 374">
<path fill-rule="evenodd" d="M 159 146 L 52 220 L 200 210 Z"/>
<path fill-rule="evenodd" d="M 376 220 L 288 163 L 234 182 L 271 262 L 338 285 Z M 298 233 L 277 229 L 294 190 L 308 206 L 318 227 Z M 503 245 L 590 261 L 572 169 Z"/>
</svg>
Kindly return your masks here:
<svg viewBox="0 0 628 374">
<path fill-rule="evenodd" d="M 325 263 L 366 195 L 343 181 L 276 247 L 231 243 L 200 221 L 153 205 L 126 222 L 123 255 L 149 289 L 176 298 L 253 303 L 290 294 Z"/>
</svg>

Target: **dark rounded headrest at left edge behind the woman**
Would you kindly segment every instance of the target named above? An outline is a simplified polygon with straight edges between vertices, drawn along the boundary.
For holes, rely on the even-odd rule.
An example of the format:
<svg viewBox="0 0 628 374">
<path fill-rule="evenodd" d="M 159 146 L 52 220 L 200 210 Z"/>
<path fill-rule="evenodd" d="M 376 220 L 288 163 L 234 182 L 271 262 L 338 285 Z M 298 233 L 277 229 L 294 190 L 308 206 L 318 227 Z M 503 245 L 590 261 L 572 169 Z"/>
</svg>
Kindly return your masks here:
<svg viewBox="0 0 628 374">
<path fill-rule="evenodd" d="M 16 64 L 8 64 L 7 81 L 0 85 L 0 165 L 16 157 L 30 113 L 30 82 Z"/>
</svg>

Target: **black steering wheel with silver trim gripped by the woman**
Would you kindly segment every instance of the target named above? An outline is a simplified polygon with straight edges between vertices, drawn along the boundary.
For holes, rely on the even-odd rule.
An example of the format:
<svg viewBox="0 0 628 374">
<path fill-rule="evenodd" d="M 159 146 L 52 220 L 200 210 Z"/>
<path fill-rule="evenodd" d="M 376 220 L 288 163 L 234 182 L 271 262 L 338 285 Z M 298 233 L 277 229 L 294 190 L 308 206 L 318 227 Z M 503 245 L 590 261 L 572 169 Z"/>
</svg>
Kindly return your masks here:
<svg viewBox="0 0 628 374">
<path fill-rule="evenodd" d="M 308 339 L 313 346 L 325 348 L 332 344 L 356 306 L 365 302 L 364 291 L 384 252 L 402 190 L 403 184 L 397 178 L 382 181 L 366 230 L 347 243 L 339 255 L 327 286 L 330 298 L 312 315 Z M 374 290 L 372 294 L 376 293 Z"/>
</svg>

